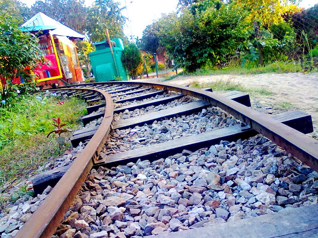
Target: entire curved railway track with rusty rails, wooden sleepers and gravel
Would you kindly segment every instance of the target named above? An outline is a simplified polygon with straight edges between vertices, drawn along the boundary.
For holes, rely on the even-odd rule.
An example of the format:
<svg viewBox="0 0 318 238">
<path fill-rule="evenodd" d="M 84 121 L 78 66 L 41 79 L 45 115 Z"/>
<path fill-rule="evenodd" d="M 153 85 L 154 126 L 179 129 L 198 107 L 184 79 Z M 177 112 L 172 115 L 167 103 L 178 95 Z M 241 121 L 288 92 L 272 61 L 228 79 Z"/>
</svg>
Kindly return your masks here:
<svg viewBox="0 0 318 238">
<path fill-rule="evenodd" d="M 71 139 L 85 148 L 35 178 L 36 193 L 54 188 L 15 237 L 315 237 L 318 142 L 306 113 L 267 116 L 244 93 L 159 83 L 55 92 L 90 104 Z"/>
</svg>

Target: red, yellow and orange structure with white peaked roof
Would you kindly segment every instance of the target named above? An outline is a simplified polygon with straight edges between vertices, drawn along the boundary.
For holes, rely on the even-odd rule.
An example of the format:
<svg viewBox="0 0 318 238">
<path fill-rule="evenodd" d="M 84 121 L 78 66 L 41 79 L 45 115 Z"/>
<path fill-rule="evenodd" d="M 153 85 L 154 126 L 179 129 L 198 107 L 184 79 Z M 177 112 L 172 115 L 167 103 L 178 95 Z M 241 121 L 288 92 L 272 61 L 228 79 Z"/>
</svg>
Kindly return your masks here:
<svg viewBox="0 0 318 238">
<path fill-rule="evenodd" d="M 39 12 L 22 26 L 25 31 L 38 33 L 39 50 L 49 62 L 38 65 L 34 73 L 39 76 L 38 85 L 42 88 L 75 84 L 84 81 L 79 65 L 75 39 L 85 36 Z"/>
</svg>

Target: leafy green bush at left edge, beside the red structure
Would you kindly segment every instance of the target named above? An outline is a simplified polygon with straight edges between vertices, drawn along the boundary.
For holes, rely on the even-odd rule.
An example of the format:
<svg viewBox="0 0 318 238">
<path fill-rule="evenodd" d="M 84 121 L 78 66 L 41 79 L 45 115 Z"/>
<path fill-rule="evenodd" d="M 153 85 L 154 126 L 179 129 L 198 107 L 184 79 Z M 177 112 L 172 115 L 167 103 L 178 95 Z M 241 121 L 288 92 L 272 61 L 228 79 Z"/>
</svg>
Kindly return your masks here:
<svg viewBox="0 0 318 238">
<path fill-rule="evenodd" d="M 0 11 L 0 94 L 4 105 L 15 99 L 17 90 L 27 93 L 35 85 L 32 70 L 44 61 L 38 54 L 38 39 L 22 31 L 18 23 L 17 17 Z"/>
</svg>

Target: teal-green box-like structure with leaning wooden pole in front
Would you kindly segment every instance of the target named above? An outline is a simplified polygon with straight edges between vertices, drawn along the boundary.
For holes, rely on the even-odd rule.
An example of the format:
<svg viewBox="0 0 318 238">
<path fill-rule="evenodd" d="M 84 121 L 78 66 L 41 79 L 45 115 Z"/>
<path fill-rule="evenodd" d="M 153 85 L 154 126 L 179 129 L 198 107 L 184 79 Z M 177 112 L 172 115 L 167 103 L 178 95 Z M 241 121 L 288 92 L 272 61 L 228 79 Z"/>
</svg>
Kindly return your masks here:
<svg viewBox="0 0 318 238">
<path fill-rule="evenodd" d="M 119 38 L 111 40 L 111 43 L 113 45 L 115 62 L 119 74 L 118 76 L 122 77 L 121 80 L 127 80 L 126 70 L 121 63 L 121 55 L 124 51 L 124 44 Z M 117 77 L 117 71 L 108 41 L 101 41 L 94 45 L 96 51 L 91 52 L 88 55 L 92 64 L 95 82 L 114 81 L 115 77 Z"/>
</svg>

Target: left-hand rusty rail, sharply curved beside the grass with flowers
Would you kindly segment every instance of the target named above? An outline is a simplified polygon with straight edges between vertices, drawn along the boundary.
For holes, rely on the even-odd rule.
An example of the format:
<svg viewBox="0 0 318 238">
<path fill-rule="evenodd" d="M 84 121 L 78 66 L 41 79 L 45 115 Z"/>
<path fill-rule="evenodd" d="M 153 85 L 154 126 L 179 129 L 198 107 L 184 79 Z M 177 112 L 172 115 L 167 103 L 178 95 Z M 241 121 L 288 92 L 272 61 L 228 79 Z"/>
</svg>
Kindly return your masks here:
<svg viewBox="0 0 318 238">
<path fill-rule="evenodd" d="M 74 88 L 68 89 L 79 90 Z M 52 237 L 81 188 L 86 176 L 92 169 L 93 159 L 98 156 L 107 139 L 113 120 L 114 108 L 110 95 L 99 89 L 81 88 L 80 90 L 95 91 L 105 98 L 106 108 L 104 119 L 93 138 L 74 160 L 70 169 L 17 233 L 15 236 L 17 238 Z"/>
</svg>

